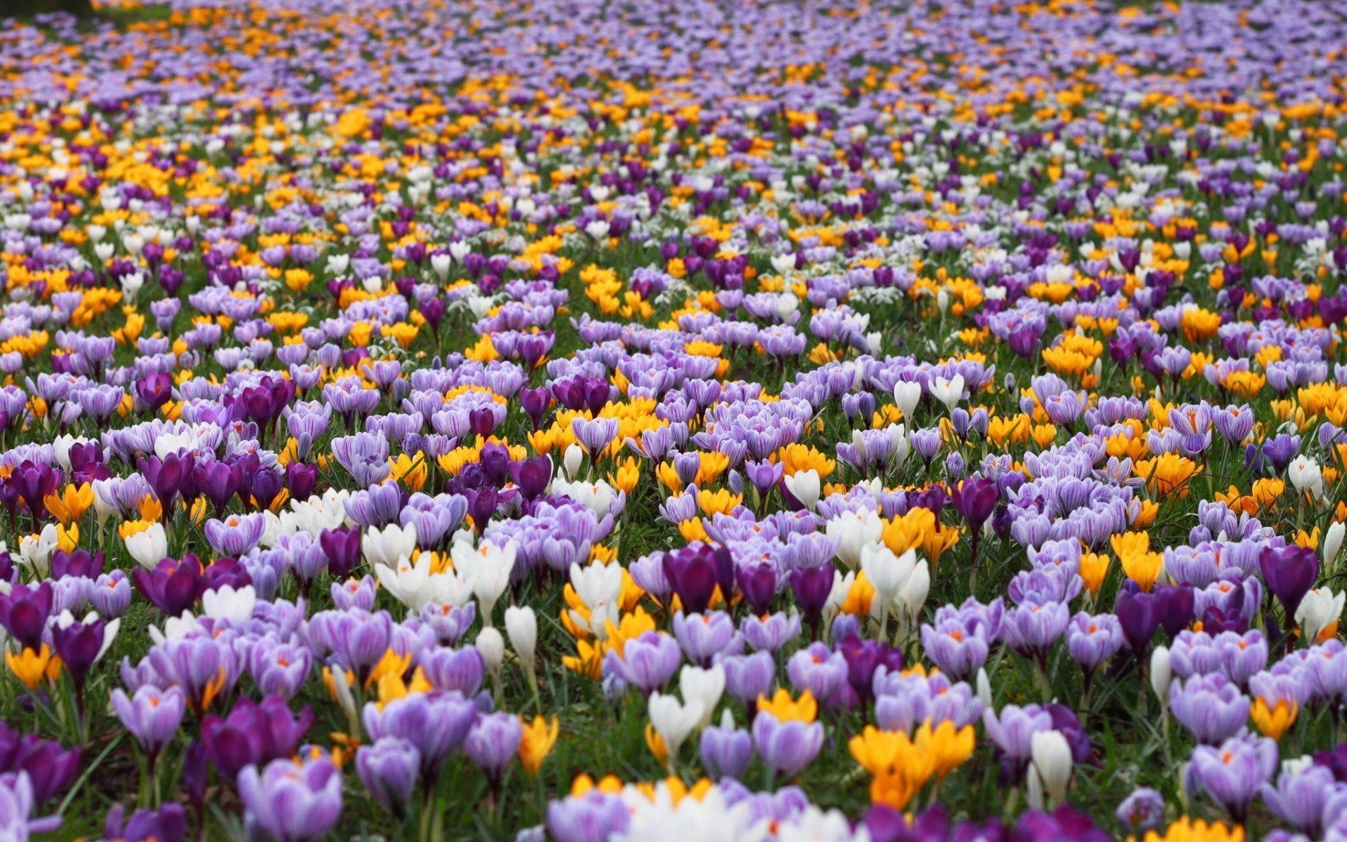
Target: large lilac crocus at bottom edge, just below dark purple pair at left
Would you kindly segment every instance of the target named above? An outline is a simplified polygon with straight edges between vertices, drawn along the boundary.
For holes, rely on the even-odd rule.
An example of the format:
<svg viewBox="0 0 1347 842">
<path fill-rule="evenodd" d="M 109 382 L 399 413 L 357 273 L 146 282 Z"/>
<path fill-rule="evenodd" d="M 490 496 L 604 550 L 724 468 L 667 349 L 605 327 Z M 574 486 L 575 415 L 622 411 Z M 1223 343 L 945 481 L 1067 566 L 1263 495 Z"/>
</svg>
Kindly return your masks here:
<svg viewBox="0 0 1347 842">
<path fill-rule="evenodd" d="M 325 756 L 275 760 L 261 772 L 248 767 L 238 775 L 248 833 L 275 842 L 321 839 L 341 818 L 341 771 Z"/>
</svg>

